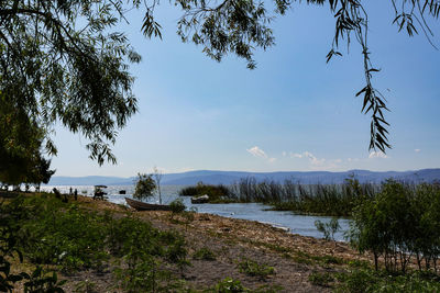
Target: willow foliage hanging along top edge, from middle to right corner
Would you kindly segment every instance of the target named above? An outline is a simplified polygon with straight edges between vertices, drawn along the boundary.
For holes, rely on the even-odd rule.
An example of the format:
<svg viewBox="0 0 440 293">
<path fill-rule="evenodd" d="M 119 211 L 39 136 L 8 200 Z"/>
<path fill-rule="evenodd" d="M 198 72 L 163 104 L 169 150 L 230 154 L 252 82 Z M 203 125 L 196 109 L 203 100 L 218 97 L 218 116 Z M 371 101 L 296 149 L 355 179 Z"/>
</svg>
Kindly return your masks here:
<svg viewBox="0 0 440 293">
<path fill-rule="evenodd" d="M 276 14 L 284 14 L 294 2 L 275 0 L 274 7 Z M 364 1 L 342 1 L 342 0 L 307 0 L 311 4 L 329 3 L 330 13 L 336 19 L 334 37 L 331 49 L 327 55 L 327 61 L 333 56 L 342 56 L 339 47 L 342 42 L 346 42 L 349 47 L 352 38 L 358 41 L 361 46 L 363 57 L 365 86 L 356 93 L 363 95 L 362 111 L 371 114 L 371 139 L 370 149 L 385 151 L 391 148 L 388 144 L 386 122 L 384 112 L 388 111 L 386 99 L 373 86 L 373 75 L 380 71 L 371 61 L 371 50 L 369 47 L 369 13 L 364 8 Z M 433 36 L 430 31 L 426 16 L 438 19 L 440 15 L 440 3 L 432 0 L 391 0 L 395 10 L 395 23 L 399 32 L 405 27 L 409 36 L 418 31 L 418 25 L 431 43 Z M 248 60 L 248 67 L 254 68 L 255 61 L 252 58 L 254 47 L 270 47 L 274 44 L 274 37 L 268 24 L 274 15 L 271 15 L 264 2 L 254 3 L 253 1 L 229 2 L 209 4 L 197 0 L 178 0 L 184 16 L 178 22 L 178 34 L 185 42 L 191 41 L 197 45 L 204 46 L 204 52 L 216 60 L 221 60 L 228 53 L 235 53 L 239 57 Z M 354 37 L 353 37 L 354 35 Z M 432 44 L 432 43 L 431 43 Z"/>
</svg>

